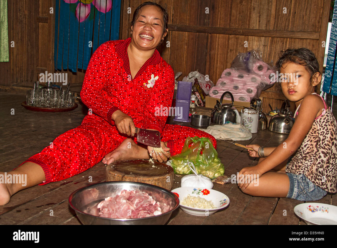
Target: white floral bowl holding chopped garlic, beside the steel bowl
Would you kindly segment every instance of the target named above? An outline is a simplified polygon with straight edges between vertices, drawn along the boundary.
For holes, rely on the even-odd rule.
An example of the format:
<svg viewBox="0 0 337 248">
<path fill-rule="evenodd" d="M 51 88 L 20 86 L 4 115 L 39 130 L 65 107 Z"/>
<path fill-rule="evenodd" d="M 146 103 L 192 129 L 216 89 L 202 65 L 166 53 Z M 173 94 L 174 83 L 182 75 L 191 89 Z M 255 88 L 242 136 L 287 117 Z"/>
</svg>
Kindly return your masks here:
<svg viewBox="0 0 337 248">
<path fill-rule="evenodd" d="M 213 190 L 213 189 L 201 189 L 201 188 L 194 188 L 194 187 L 181 187 L 172 190 L 174 194 L 176 194 L 180 201 L 180 208 L 191 215 L 201 215 L 201 216 L 208 216 L 214 214 L 216 211 L 226 208 L 229 204 L 229 198 L 225 194 Z M 187 195 L 201 197 L 205 200 L 212 201 L 213 204 L 216 206 L 215 209 L 198 209 L 192 208 L 190 206 L 182 205 L 181 202 Z"/>
</svg>

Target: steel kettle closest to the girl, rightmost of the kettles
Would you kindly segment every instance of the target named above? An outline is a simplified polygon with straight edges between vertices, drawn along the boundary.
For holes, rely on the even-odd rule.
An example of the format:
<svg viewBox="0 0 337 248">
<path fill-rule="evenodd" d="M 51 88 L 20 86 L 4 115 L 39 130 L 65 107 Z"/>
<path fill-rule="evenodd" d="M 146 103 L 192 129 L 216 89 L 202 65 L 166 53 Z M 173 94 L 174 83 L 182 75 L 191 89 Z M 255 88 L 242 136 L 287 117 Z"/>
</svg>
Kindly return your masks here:
<svg viewBox="0 0 337 248">
<path fill-rule="evenodd" d="M 285 100 L 282 104 L 281 112 L 274 115 L 270 121 L 268 129 L 275 133 L 288 134 L 292 129 L 295 119 L 288 113 L 288 110 L 285 110 L 285 105 L 288 108 L 290 106 L 289 101 Z M 292 114 L 292 112 L 290 112 Z"/>
</svg>

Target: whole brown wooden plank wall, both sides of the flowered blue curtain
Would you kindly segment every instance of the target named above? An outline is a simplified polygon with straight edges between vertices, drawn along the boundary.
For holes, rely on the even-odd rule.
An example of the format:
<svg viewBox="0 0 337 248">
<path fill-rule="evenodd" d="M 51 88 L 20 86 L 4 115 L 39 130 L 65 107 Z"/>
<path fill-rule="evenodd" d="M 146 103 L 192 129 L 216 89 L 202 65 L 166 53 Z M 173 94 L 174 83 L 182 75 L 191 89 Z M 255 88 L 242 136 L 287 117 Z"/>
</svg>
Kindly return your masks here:
<svg viewBox="0 0 337 248">
<path fill-rule="evenodd" d="M 145 1 L 122 1 L 121 39 L 130 36 L 132 13 Z M 254 48 L 262 50 L 266 62 L 275 63 L 281 50 L 307 47 L 316 54 L 323 70 L 325 48 L 321 44 L 326 40 L 330 0 L 153 1 L 170 15 L 170 32 L 158 50 L 183 76 L 198 70 L 216 82 L 238 53 Z M 39 73 L 55 72 L 55 4 L 56 0 L 8 1 L 8 38 L 15 47 L 9 47 L 10 61 L 0 62 L 0 85 L 33 86 Z M 54 14 L 50 7 L 54 7 Z M 209 13 L 205 13 L 206 7 Z M 166 47 L 167 41 L 170 47 Z M 68 72 L 68 81 L 81 85 L 84 74 Z M 279 99 L 284 99 L 278 84 L 261 97 L 265 110 L 268 103 L 280 106 Z"/>
</svg>

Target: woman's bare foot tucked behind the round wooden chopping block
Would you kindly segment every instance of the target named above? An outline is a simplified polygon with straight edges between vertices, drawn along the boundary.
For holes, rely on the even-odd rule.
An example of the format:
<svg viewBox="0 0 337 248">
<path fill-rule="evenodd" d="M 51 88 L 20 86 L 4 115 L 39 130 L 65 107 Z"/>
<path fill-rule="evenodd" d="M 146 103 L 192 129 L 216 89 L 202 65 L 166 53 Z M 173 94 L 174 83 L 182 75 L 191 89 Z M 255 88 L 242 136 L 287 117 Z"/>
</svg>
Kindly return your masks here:
<svg viewBox="0 0 337 248">
<path fill-rule="evenodd" d="M 128 159 L 150 159 L 150 155 L 146 147 L 137 145 L 133 139 L 127 138 L 115 150 L 106 154 L 102 159 L 102 163 L 110 164 Z"/>
</svg>

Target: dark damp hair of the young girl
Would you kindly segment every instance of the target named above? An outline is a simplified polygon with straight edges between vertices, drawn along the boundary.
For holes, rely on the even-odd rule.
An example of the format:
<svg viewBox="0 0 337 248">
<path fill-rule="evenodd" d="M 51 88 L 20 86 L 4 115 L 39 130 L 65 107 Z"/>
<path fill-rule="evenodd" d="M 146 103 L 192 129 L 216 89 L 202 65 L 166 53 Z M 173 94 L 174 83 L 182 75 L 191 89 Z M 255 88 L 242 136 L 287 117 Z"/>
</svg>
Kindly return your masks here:
<svg viewBox="0 0 337 248">
<path fill-rule="evenodd" d="M 280 71 L 283 64 L 287 62 L 293 62 L 296 64 L 303 65 L 310 74 L 310 80 L 312 76 L 319 72 L 319 64 L 316 59 L 316 56 L 307 48 L 298 48 L 298 49 L 287 49 L 281 51 L 282 55 L 276 62 L 277 70 Z M 320 72 L 319 72 L 320 73 Z M 315 90 L 317 86 L 315 86 Z"/>
</svg>

